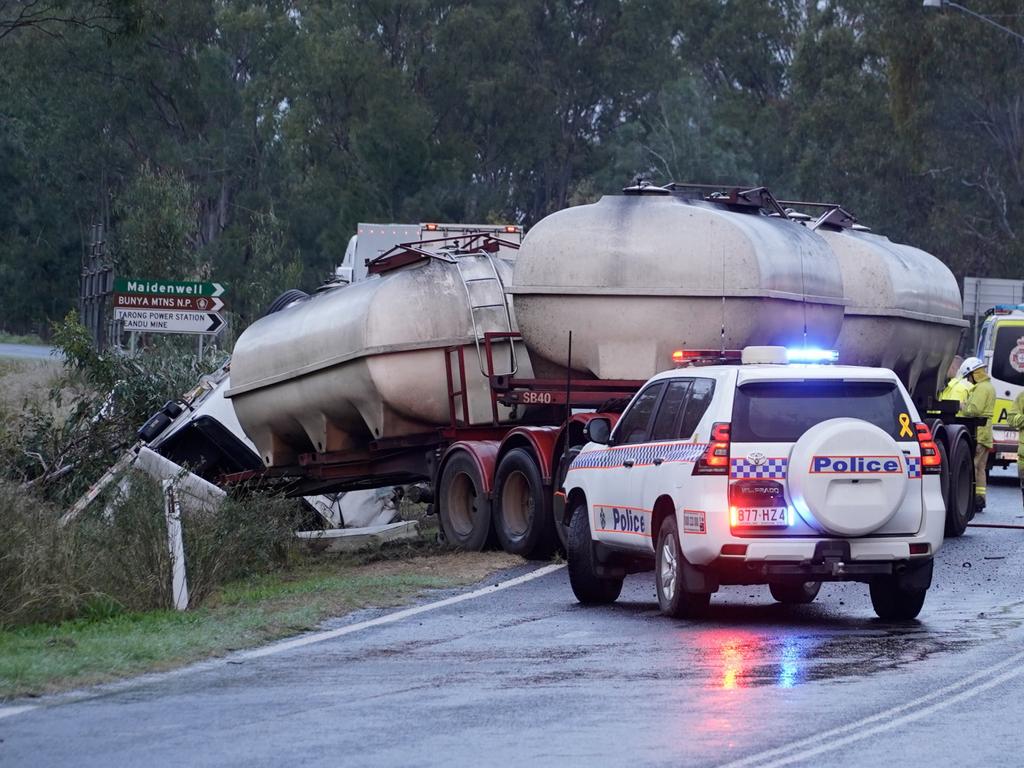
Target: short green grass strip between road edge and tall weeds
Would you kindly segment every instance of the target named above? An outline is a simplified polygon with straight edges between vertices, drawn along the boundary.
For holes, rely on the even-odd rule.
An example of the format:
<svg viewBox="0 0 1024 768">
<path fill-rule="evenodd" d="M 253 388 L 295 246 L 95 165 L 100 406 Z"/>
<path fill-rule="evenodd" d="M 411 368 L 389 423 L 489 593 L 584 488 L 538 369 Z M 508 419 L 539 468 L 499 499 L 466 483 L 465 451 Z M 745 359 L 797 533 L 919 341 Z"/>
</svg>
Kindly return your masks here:
<svg viewBox="0 0 1024 768">
<path fill-rule="evenodd" d="M 0 697 L 38 695 L 178 667 L 409 602 L 521 564 L 501 552 L 397 545 L 233 582 L 195 610 L 124 612 L 0 632 Z"/>
</svg>

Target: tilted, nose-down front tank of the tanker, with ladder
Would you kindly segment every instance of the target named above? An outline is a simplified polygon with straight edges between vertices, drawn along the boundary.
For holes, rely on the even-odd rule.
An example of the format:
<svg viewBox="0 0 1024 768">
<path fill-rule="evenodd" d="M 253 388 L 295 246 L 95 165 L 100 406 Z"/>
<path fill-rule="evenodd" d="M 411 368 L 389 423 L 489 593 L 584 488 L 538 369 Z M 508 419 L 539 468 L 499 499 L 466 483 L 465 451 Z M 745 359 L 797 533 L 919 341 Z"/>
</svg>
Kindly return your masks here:
<svg viewBox="0 0 1024 768">
<path fill-rule="evenodd" d="M 504 296 L 510 276 L 497 256 L 441 254 L 250 326 L 234 346 L 227 396 L 263 462 L 292 464 L 303 453 L 357 450 L 449 424 L 447 347 L 465 354 L 469 423 L 490 423 L 476 339 L 515 330 Z M 500 351 L 497 373 L 507 373 L 508 346 Z M 532 375 L 521 347 L 516 362 L 519 376 Z M 461 399 L 456 406 L 461 414 Z M 499 417 L 511 415 L 500 409 Z"/>
</svg>

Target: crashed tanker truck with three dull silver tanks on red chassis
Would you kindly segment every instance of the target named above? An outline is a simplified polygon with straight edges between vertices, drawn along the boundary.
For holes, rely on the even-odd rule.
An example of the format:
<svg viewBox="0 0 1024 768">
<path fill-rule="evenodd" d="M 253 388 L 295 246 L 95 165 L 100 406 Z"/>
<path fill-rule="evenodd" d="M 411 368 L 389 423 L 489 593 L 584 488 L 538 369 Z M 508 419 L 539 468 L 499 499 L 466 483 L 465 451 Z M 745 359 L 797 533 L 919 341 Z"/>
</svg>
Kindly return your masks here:
<svg viewBox="0 0 1024 768">
<path fill-rule="evenodd" d="M 947 535 L 961 535 L 976 425 L 935 401 L 967 325 L 950 271 L 837 205 L 624 191 L 546 217 L 518 248 L 486 234 L 398 246 L 367 280 L 252 325 L 227 396 L 265 466 L 227 479 L 295 495 L 427 482 L 451 543 L 546 557 L 564 543 L 557 492 L 590 419 L 614 420 L 695 350 L 803 345 L 899 375 L 928 414 Z"/>
</svg>

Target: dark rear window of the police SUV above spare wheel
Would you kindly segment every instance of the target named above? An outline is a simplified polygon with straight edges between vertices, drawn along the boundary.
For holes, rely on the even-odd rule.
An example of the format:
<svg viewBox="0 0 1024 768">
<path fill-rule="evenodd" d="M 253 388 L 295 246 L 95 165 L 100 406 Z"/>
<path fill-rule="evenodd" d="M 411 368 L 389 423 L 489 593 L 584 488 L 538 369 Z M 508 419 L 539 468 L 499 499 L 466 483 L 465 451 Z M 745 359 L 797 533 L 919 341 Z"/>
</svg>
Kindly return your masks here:
<svg viewBox="0 0 1024 768">
<path fill-rule="evenodd" d="M 731 434 L 736 442 L 793 442 L 816 424 L 850 417 L 900 439 L 899 417 L 905 413 L 903 395 L 892 383 L 751 382 L 736 390 Z"/>
</svg>

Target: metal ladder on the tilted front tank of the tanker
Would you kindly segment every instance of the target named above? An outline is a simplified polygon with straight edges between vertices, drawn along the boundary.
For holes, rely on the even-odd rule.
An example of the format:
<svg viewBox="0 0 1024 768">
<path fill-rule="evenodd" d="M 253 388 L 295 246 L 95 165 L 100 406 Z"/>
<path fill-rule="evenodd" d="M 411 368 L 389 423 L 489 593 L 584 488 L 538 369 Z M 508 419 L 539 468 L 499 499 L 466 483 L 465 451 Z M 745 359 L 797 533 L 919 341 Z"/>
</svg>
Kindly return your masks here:
<svg viewBox="0 0 1024 768">
<path fill-rule="evenodd" d="M 480 366 L 480 374 L 484 377 L 493 375 L 514 376 L 519 370 L 516 359 L 515 343 L 510 338 L 507 371 L 494 371 L 494 359 L 484 361 L 482 348 L 485 333 L 513 334 L 512 310 L 509 309 L 505 297 L 505 284 L 502 282 L 494 256 L 484 250 L 455 255 L 459 278 L 466 288 L 466 300 L 469 305 L 469 316 L 473 323 L 473 342 L 476 345 L 476 359 Z"/>
</svg>

